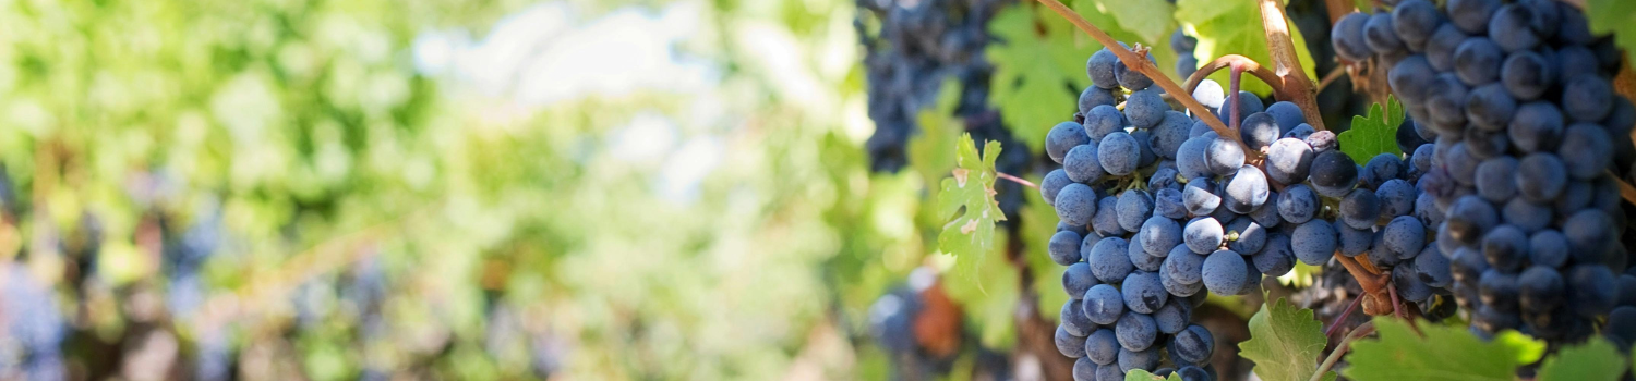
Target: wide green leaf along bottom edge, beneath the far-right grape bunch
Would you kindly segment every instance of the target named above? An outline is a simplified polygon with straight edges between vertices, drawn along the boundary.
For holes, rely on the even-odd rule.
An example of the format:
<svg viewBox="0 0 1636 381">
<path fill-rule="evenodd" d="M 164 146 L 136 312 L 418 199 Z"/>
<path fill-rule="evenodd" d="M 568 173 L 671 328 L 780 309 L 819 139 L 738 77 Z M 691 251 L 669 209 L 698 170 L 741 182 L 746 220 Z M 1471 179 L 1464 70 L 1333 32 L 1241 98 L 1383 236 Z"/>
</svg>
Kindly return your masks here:
<svg viewBox="0 0 1636 381">
<path fill-rule="evenodd" d="M 1507 330 L 1484 342 L 1466 327 L 1428 324 L 1415 327 L 1392 317 L 1374 319 L 1378 338 L 1358 340 L 1342 371 L 1355 381 L 1459 379 L 1512 381 L 1517 366 L 1533 363 L 1544 343 Z"/>
</svg>

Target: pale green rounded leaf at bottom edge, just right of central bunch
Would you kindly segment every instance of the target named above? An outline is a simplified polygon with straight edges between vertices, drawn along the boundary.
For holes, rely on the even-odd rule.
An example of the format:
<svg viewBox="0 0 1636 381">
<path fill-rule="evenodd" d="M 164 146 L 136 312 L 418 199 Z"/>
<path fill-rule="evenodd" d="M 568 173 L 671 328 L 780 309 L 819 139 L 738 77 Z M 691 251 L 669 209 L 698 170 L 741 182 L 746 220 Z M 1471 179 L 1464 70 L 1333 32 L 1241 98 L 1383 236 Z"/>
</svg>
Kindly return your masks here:
<svg viewBox="0 0 1636 381">
<path fill-rule="evenodd" d="M 1312 319 L 1312 311 L 1279 298 L 1250 317 L 1250 340 L 1238 343 L 1238 355 L 1255 361 L 1261 379 L 1307 379 L 1319 370 L 1325 345 L 1324 324 Z M 1335 373 L 1325 371 L 1324 379 L 1335 379 Z"/>
</svg>

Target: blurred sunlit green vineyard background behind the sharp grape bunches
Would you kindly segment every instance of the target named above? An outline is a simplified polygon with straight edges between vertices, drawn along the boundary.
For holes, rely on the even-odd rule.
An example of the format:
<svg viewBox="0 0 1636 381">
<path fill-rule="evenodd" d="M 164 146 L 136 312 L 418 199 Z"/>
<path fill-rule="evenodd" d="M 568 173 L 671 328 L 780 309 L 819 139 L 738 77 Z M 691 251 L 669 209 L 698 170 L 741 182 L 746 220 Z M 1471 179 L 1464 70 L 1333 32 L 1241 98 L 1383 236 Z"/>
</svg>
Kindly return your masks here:
<svg viewBox="0 0 1636 381">
<path fill-rule="evenodd" d="M 1016 0 L 0 0 L 0 379 L 1063 379 L 1050 208 L 936 249 L 960 132 L 1037 182 L 1088 83 L 991 29 L 1099 47 Z"/>
</svg>

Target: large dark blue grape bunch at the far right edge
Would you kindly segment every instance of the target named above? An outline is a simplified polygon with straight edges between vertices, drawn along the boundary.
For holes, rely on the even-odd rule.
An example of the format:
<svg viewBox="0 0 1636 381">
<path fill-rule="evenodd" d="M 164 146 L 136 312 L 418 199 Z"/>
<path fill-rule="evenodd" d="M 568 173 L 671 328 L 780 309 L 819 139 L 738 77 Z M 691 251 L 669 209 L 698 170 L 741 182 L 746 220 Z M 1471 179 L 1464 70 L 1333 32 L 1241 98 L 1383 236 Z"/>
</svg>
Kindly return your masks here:
<svg viewBox="0 0 1636 381">
<path fill-rule="evenodd" d="M 1610 173 L 1636 106 L 1613 93 L 1623 54 L 1553 0 L 1404 0 L 1335 23 L 1343 59 L 1387 67 L 1427 144 L 1417 211 L 1474 330 L 1553 343 L 1636 340 L 1636 276 Z M 1623 275 L 1621 275 L 1623 273 Z M 1610 317 L 1611 316 L 1611 317 Z"/>
</svg>

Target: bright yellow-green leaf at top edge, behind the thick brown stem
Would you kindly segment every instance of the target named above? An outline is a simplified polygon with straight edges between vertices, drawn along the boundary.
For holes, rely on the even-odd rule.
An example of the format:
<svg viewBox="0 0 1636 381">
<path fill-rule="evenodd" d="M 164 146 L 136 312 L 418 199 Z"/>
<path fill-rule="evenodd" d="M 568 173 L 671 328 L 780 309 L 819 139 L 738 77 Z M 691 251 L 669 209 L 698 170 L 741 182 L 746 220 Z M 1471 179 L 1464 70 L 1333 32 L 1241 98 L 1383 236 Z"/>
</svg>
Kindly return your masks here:
<svg viewBox="0 0 1636 381">
<path fill-rule="evenodd" d="M 1261 8 L 1256 2 L 1180 0 L 1176 2 L 1176 21 L 1191 25 L 1198 31 L 1194 36 L 1198 36 L 1199 44 L 1193 54 L 1199 62 L 1209 62 L 1227 54 L 1240 54 L 1261 62 L 1265 67 L 1273 67 L 1273 56 L 1266 49 L 1266 31 L 1261 29 Z M 1312 72 L 1312 54 L 1306 49 L 1306 38 L 1294 28 L 1294 21 L 1284 18 L 1284 23 L 1289 25 L 1289 38 L 1294 41 L 1296 61 L 1301 61 L 1301 70 L 1307 72 L 1307 78 L 1317 78 L 1317 74 Z M 1219 70 L 1211 78 L 1227 87 L 1227 74 L 1229 70 Z M 1261 83 L 1261 80 L 1255 80 L 1253 75 L 1243 75 L 1243 78 L 1240 82 L 1242 90 L 1258 95 L 1273 92 L 1271 87 Z"/>
</svg>

